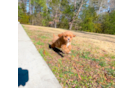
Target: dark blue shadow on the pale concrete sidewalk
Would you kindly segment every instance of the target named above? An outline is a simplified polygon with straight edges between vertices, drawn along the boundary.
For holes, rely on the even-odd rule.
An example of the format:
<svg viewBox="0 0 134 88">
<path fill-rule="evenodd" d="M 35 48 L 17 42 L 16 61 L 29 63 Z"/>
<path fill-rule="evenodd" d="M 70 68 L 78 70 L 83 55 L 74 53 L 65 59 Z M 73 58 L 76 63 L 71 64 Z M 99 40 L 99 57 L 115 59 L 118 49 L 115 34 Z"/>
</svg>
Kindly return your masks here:
<svg viewBox="0 0 134 88">
<path fill-rule="evenodd" d="M 22 68 L 18 68 L 18 87 L 20 85 L 25 86 L 28 80 L 29 80 L 28 70 L 23 70 Z"/>
</svg>

